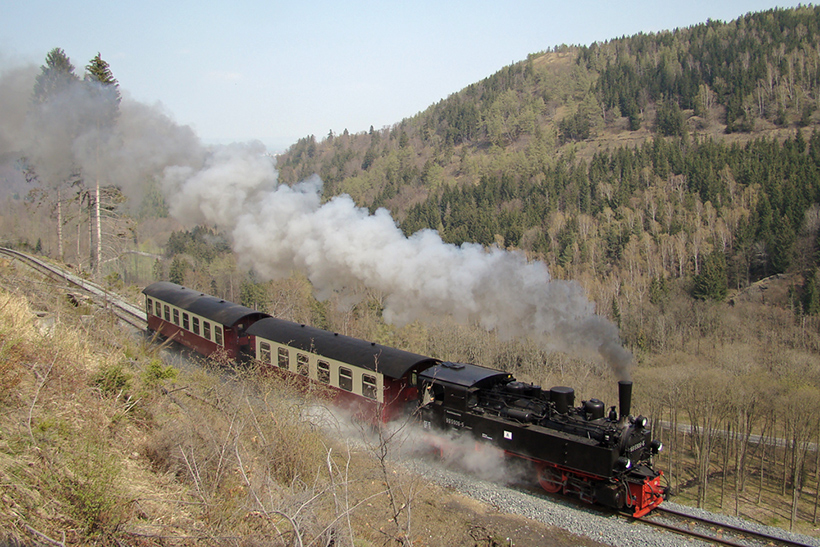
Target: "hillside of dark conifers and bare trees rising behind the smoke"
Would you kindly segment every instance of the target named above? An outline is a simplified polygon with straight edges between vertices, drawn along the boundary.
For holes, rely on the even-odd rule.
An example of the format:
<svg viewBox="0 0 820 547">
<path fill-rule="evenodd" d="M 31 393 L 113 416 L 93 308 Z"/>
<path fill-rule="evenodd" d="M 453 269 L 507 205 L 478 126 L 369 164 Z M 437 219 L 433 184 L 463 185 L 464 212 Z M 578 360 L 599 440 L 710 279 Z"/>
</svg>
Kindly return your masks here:
<svg viewBox="0 0 820 547">
<path fill-rule="evenodd" d="M 599 303 L 610 276 L 723 299 L 794 272 L 816 314 L 819 31 L 820 8 L 777 9 L 533 54 L 393 127 L 306 137 L 280 179 L 522 249 Z"/>
</svg>

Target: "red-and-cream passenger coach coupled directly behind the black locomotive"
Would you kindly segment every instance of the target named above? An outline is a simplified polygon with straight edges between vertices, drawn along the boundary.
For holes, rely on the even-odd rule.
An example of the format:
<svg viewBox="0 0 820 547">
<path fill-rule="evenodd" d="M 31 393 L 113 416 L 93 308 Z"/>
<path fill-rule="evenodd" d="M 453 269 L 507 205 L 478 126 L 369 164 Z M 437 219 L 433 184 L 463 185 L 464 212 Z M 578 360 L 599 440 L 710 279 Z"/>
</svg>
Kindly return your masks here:
<svg viewBox="0 0 820 547">
<path fill-rule="evenodd" d="M 332 388 L 334 399 L 387 422 L 418 406 L 418 372 L 438 361 L 315 327 L 267 317 L 248 329 L 254 357 Z"/>
</svg>

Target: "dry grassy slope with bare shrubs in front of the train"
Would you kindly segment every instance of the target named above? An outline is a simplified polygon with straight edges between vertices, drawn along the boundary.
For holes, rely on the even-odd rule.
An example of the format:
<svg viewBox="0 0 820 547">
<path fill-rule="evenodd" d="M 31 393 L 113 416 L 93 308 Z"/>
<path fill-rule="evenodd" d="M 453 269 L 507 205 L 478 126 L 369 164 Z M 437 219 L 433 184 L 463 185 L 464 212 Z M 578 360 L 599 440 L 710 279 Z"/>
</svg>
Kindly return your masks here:
<svg viewBox="0 0 820 547">
<path fill-rule="evenodd" d="M 578 542 L 395 468 L 390 432 L 351 442 L 316 411 L 320 393 L 218 363 L 171 366 L 107 314 L 26 292 L 0 288 L 0 542 Z"/>
</svg>

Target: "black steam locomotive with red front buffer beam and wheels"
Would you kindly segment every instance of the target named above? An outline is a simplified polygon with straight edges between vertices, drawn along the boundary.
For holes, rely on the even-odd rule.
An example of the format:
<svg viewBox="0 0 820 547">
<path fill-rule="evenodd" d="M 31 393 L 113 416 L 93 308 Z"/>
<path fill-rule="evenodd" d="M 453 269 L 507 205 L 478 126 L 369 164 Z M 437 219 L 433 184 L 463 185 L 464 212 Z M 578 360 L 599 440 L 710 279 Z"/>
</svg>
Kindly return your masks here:
<svg viewBox="0 0 820 547">
<path fill-rule="evenodd" d="M 439 363 L 419 374 L 424 427 L 458 430 L 529 460 L 541 487 L 636 517 L 660 505 L 667 489 L 652 468 L 662 448 L 643 416 L 629 415 L 632 382 L 618 384 L 620 412 L 598 399 L 574 407 L 569 387 L 549 391 L 507 373 Z"/>
</svg>

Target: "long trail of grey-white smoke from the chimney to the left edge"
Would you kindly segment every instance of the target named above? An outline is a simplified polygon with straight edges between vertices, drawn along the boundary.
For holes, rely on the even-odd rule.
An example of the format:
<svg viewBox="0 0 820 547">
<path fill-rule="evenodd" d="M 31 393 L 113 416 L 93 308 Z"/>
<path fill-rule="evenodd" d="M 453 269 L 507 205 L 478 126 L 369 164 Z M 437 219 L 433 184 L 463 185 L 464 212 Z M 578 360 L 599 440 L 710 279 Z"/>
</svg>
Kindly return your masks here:
<svg viewBox="0 0 820 547">
<path fill-rule="evenodd" d="M 21 74 L 0 76 L 0 89 L 24 83 L 28 90 L 5 97 L 30 96 L 36 73 Z M 0 102 L 0 119 L 17 119 L 6 117 L 8 102 L 14 101 Z M 11 107 L 19 114 L 29 105 Z M 65 134 L 59 125 L 71 118 L 64 114 L 72 108 L 83 106 L 68 97 L 51 134 Z M 349 196 L 322 203 L 318 177 L 279 185 L 260 143 L 205 147 L 159 107 L 127 96 L 116 134 L 93 156 L 83 144 L 90 135 L 52 142 L 32 134 L 30 124 L 13 125 L 0 126 L 0 158 L 28 155 L 55 178 L 70 158 L 129 197 L 139 197 L 147 180 L 159 180 L 174 217 L 231 232 L 243 264 L 262 277 L 301 271 L 319 298 L 364 285 L 385 295 L 384 317 L 394 324 L 451 315 L 505 338 L 529 337 L 547 348 L 605 361 L 619 377 L 628 376 L 631 355 L 617 328 L 595 314 L 578 283 L 551 279 L 545 264 L 527 261 L 521 252 L 447 244 L 432 230 L 406 237 L 387 210 L 370 214 Z"/>
</svg>

